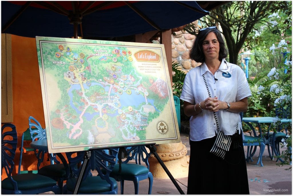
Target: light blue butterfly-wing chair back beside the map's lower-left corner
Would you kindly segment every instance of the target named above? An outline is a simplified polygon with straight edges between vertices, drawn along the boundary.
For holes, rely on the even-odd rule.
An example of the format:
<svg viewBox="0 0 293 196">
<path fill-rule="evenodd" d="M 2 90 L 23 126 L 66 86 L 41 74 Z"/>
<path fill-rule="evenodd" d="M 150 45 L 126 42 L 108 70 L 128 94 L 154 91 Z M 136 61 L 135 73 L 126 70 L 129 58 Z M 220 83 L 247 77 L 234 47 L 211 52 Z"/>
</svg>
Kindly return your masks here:
<svg viewBox="0 0 293 196">
<path fill-rule="evenodd" d="M 46 129 L 43 129 L 41 124 L 33 116 L 28 118 L 28 125 L 30 127 L 30 136 L 33 141 L 37 138 L 38 140 L 47 139 Z M 35 133 L 37 133 L 37 135 L 35 135 Z"/>
</svg>

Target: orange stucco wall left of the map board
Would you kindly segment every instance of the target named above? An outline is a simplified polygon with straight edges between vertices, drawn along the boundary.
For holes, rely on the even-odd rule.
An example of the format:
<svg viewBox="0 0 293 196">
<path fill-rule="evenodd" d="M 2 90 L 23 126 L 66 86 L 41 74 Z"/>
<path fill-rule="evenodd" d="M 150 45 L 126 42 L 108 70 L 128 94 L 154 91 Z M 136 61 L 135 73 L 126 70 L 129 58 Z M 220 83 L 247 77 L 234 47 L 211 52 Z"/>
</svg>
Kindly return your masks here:
<svg viewBox="0 0 293 196">
<path fill-rule="evenodd" d="M 21 135 L 29 127 L 28 118 L 33 116 L 45 127 L 45 117 L 42 102 L 40 74 L 35 38 L 11 36 L 12 44 L 12 93 L 13 122 L 18 136 L 18 149 L 14 158 L 13 174 L 18 171 L 19 147 Z M 25 145 L 29 146 L 30 142 Z M 23 154 L 21 170 L 37 170 L 37 158 L 34 152 Z M 46 157 L 43 165 L 50 164 Z M 2 179 L 6 177 L 2 171 Z"/>
</svg>

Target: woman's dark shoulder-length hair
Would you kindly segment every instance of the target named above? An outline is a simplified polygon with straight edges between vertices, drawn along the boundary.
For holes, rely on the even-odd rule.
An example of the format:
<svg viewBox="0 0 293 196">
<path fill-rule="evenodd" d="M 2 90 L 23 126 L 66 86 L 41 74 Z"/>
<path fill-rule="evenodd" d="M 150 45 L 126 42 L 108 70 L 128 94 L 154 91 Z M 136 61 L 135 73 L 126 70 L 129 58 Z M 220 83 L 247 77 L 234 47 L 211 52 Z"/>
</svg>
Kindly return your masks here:
<svg viewBox="0 0 293 196">
<path fill-rule="evenodd" d="M 222 61 L 222 59 L 227 57 L 228 52 L 220 31 L 217 28 L 206 28 L 205 30 L 198 32 L 197 37 L 193 43 L 193 47 L 189 52 L 190 58 L 198 63 L 205 62 L 205 55 L 202 50 L 202 43 L 210 32 L 214 32 L 220 44 L 219 61 Z"/>
</svg>

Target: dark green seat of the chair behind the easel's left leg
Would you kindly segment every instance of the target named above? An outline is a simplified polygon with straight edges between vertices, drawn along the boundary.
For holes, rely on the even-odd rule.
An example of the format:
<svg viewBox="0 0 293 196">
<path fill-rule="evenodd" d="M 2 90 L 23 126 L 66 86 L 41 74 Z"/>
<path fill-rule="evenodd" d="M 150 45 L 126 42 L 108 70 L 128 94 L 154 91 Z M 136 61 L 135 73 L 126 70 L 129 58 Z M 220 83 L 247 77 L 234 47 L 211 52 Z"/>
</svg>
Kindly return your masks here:
<svg viewBox="0 0 293 196">
<path fill-rule="evenodd" d="M 114 182 L 114 189 L 117 188 L 117 182 L 114 178 L 110 178 Z M 74 192 L 77 178 L 69 178 L 66 182 L 67 189 Z M 93 186 L 94 185 L 94 186 Z M 111 190 L 111 185 L 100 178 L 100 176 L 89 176 L 85 180 L 82 180 L 79 194 L 83 193 L 98 193 L 98 192 L 108 192 Z"/>
</svg>

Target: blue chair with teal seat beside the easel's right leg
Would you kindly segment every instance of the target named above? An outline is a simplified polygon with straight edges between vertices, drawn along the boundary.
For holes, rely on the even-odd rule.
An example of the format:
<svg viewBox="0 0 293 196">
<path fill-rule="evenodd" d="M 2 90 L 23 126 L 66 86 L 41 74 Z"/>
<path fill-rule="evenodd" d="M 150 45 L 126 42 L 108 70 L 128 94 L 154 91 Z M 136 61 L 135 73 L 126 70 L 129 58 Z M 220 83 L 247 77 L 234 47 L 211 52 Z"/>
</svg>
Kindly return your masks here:
<svg viewBox="0 0 293 196">
<path fill-rule="evenodd" d="M 120 164 L 115 164 L 114 169 L 110 173 L 110 177 L 120 181 L 121 194 L 124 191 L 124 181 L 129 180 L 134 183 L 134 194 L 138 195 L 139 181 L 149 178 L 149 195 L 153 185 L 153 174 L 149 171 L 149 156 L 150 152 L 147 152 L 145 146 L 132 146 L 127 148 L 127 158 L 121 161 Z M 128 163 L 134 159 L 136 164 Z M 141 165 L 141 160 L 146 166 Z M 118 156 L 116 157 L 116 163 L 118 163 Z"/>
</svg>

